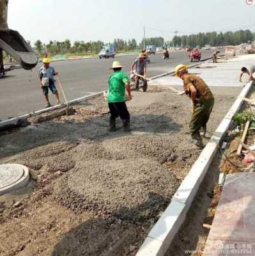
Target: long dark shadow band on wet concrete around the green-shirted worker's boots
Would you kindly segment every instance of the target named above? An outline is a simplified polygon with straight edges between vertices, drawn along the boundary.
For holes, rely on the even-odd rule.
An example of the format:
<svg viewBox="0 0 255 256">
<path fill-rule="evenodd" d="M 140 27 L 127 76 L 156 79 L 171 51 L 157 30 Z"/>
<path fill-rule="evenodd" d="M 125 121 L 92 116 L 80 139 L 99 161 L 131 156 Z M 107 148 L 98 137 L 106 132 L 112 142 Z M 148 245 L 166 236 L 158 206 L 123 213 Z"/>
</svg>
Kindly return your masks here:
<svg viewBox="0 0 255 256">
<path fill-rule="evenodd" d="M 103 141 L 112 137 L 131 136 L 132 132 L 172 134 L 182 128 L 182 125 L 174 123 L 169 116 L 165 115 L 144 114 L 132 116 L 132 132 L 123 132 L 120 120 L 117 123 L 119 130 L 113 133 L 108 132 L 108 122 L 108 116 L 98 116 L 84 120 L 84 122 L 67 120 L 66 122 L 49 121 L 42 124 L 29 125 L 15 130 L 13 133 L 1 136 L 0 157 L 13 156 L 56 142 Z M 47 150 L 54 150 L 54 148 L 47 148 Z"/>
</svg>

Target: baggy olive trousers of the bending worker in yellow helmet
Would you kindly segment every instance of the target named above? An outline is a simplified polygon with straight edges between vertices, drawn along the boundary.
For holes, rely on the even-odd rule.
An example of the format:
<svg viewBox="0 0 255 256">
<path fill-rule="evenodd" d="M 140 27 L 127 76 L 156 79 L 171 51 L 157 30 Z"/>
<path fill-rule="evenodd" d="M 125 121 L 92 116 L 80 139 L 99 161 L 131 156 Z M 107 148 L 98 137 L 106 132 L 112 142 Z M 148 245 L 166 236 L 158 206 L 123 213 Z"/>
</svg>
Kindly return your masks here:
<svg viewBox="0 0 255 256">
<path fill-rule="evenodd" d="M 191 134 L 200 131 L 201 127 L 205 127 L 214 105 L 214 99 L 205 100 L 203 103 L 198 103 L 194 106 L 194 113 L 190 118 L 189 129 Z"/>
</svg>

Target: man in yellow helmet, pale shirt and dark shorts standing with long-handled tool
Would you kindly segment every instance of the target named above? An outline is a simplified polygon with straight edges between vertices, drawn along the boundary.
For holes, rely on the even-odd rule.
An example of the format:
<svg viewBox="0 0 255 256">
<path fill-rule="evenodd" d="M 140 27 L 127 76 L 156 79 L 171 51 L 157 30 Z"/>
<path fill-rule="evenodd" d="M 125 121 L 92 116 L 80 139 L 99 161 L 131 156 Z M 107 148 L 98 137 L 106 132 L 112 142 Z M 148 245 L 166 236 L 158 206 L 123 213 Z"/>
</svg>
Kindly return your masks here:
<svg viewBox="0 0 255 256">
<path fill-rule="evenodd" d="M 57 76 L 58 72 L 55 71 L 54 67 L 50 66 L 50 59 L 44 58 L 43 59 L 43 67 L 40 68 L 38 72 L 38 77 L 40 78 L 41 88 L 43 90 L 43 95 L 45 96 L 45 100 L 47 104 L 45 108 L 49 108 L 49 89 L 55 95 L 58 104 L 61 104 L 59 100 L 58 90 L 55 86 L 54 76 Z"/>
</svg>

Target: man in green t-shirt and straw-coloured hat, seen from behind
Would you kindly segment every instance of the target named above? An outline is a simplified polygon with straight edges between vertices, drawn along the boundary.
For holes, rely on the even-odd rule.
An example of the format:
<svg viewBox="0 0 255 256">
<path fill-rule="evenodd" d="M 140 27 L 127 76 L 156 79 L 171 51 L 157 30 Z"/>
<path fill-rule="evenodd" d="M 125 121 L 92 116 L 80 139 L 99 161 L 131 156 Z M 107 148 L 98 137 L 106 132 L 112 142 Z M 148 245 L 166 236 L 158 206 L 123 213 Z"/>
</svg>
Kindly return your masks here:
<svg viewBox="0 0 255 256">
<path fill-rule="evenodd" d="M 130 115 L 127 109 L 126 100 L 131 100 L 131 88 L 128 75 L 121 71 L 119 61 L 112 63 L 113 73 L 109 77 L 109 89 L 107 101 L 110 111 L 109 132 L 116 131 L 116 118 L 120 116 L 123 123 L 123 131 L 130 131 Z M 125 90 L 128 95 L 126 96 Z"/>
</svg>

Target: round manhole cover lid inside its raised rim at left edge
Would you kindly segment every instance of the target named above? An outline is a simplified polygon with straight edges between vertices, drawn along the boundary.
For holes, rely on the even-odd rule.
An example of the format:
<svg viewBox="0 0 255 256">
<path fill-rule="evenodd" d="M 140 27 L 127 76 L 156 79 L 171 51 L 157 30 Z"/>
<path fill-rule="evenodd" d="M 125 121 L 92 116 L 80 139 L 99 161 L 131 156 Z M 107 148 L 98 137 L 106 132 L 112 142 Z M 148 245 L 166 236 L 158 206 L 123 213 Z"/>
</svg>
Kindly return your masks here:
<svg viewBox="0 0 255 256">
<path fill-rule="evenodd" d="M 0 165 L 0 189 L 11 186 L 24 175 L 24 169 L 19 164 Z"/>
</svg>

